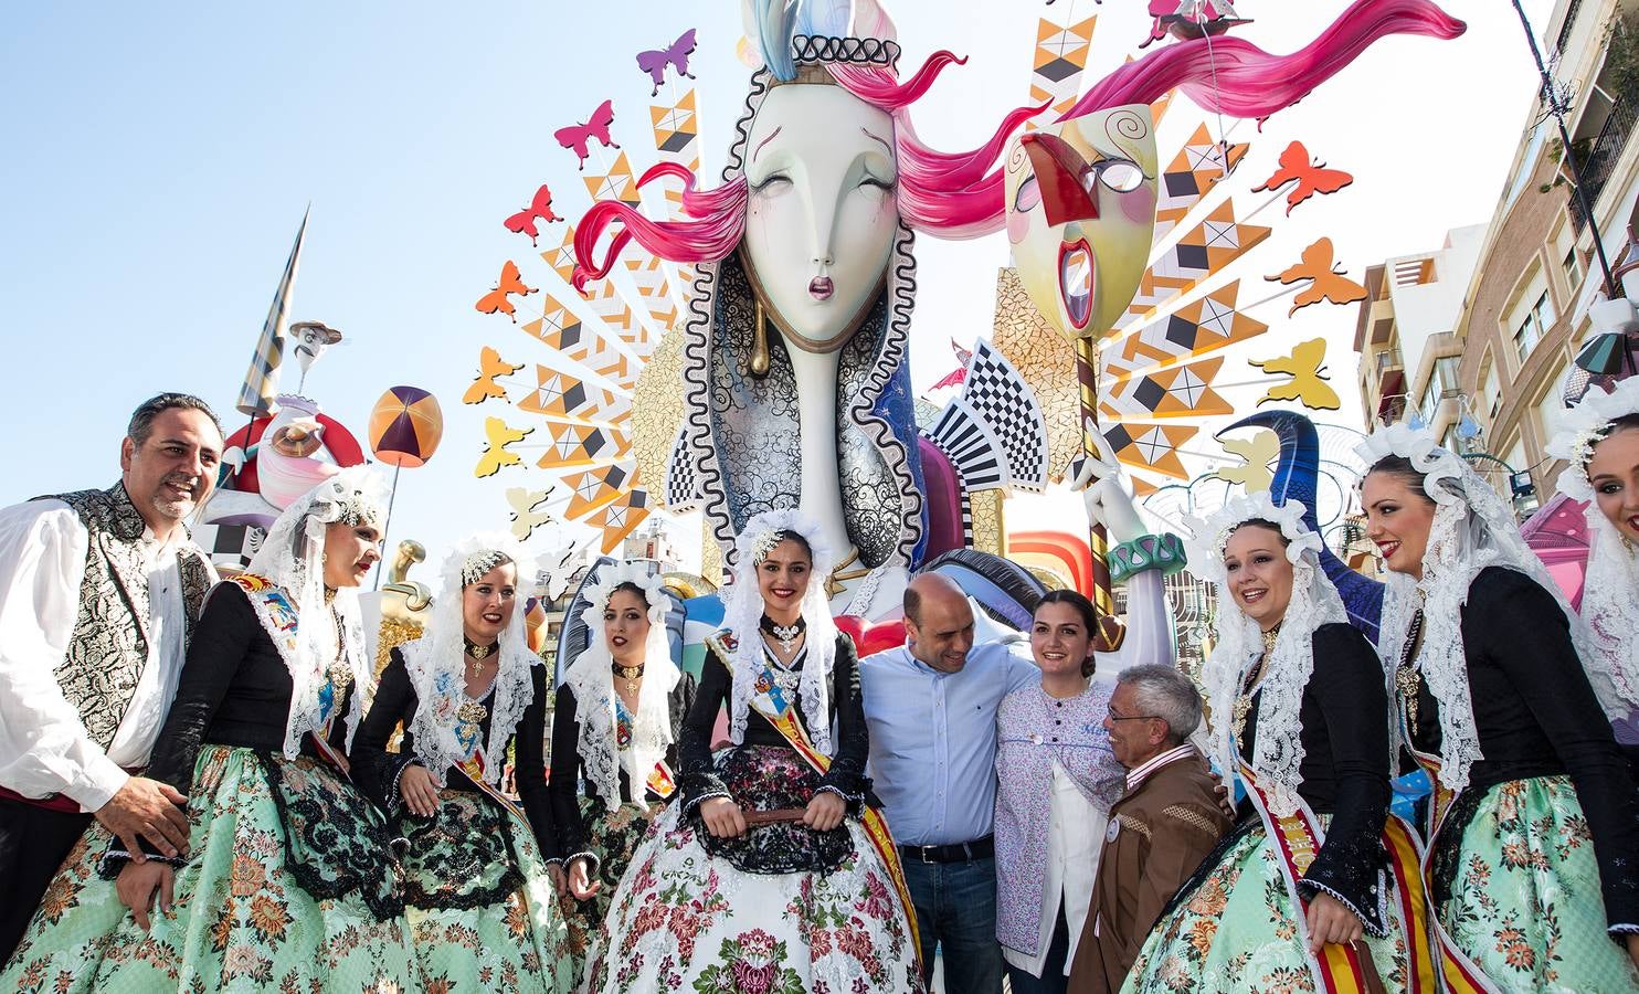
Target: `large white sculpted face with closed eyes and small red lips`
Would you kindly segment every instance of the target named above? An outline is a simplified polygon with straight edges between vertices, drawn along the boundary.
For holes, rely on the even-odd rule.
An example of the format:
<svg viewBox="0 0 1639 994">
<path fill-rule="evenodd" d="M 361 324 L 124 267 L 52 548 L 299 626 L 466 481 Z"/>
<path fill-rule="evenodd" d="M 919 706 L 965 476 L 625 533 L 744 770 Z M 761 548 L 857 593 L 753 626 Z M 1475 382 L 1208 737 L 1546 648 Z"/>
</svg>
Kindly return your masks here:
<svg viewBox="0 0 1639 994">
<path fill-rule="evenodd" d="M 751 276 L 792 346 L 841 348 L 875 299 L 900 212 L 893 118 L 838 85 L 785 84 L 746 139 Z"/>
</svg>

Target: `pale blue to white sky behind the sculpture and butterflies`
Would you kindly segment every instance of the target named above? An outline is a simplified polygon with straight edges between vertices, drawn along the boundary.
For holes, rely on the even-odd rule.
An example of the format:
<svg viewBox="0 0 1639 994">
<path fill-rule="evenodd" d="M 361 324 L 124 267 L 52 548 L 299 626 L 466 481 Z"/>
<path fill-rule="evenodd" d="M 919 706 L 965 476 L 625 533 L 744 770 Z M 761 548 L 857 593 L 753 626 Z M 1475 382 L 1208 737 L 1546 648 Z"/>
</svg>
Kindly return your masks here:
<svg viewBox="0 0 1639 994">
<path fill-rule="evenodd" d="M 1260 18 L 1249 38 L 1290 51 L 1342 7 L 1246 0 L 1242 10 Z M 1236 133 L 1254 138 L 1254 171 L 1301 136 L 1357 172 L 1336 203 L 1303 208 L 1306 231 L 1333 235 L 1355 277 L 1487 220 L 1526 123 L 1532 69 L 1508 7 L 1447 7 L 1470 20 L 1467 38 L 1383 43 L 1272 121 L 1262 148 L 1251 125 Z M 1539 21 L 1549 7 L 1528 3 Z M 957 8 L 962 16 L 949 18 Z M 972 56 L 918 107 L 926 139 L 969 148 L 1023 102 L 1036 3 L 903 0 L 892 10 L 908 61 L 933 48 Z M 574 157 L 551 133 L 605 97 L 616 100 L 616 138 L 639 153 L 639 169 L 651 161 L 649 84 L 633 54 L 687 26 L 700 30 L 695 69 L 715 172 L 747 74 L 733 57 L 731 0 L 0 8 L 0 328 L 10 356 L 0 438 L 20 456 L 0 504 L 113 481 L 126 415 L 161 389 L 202 394 L 236 426 L 233 399 L 311 202 L 292 318 L 323 320 L 347 341 L 315 367 L 306 394 L 362 436 L 384 389 L 433 390 L 447 415 L 444 446 L 405 472 L 393 531 L 425 538 L 436 558 L 461 531 L 502 527 L 502 489 L 546 481 L 538 471 L 474 481 L 485 412 L 462 410 L 459 395 L 480 344 L 513 361 L 544 351 L 472 302 L 503 259 L 518 259 L 526 279 L 549 274 L 500 221 L 541 182 L 559 192 L 561 213 L 585 207 Z M 1118 64 L 1141 31 L 1137 0 L 1106 3 L 1095 64 Z M 1198 112 L 1174 118 L 1193 126 Z M 1283 249 L 1269 251 L 1264 271 L 1287 262 L 1275 258 Z M 928 384 L 951 366 L 949 336 L 988 331 L 1006 248 L 998 238 L 921 239 L 919 258 L 915 371 Z M 1293 325 L 1293 340 L 1311 330 L 1347 340 L 1354 312 L 1303 313 Z M 1346 394 L 1351 359 L 1334 344 Z"/>
</svg>

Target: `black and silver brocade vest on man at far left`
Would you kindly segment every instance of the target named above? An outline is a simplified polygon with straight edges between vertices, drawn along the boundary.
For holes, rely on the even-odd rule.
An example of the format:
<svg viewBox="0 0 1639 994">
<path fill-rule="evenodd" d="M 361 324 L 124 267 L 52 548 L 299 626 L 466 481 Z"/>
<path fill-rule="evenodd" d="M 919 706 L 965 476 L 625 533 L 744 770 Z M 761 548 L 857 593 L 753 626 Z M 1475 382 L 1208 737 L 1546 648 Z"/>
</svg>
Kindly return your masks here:
<svg viewBox="0 0 1639 994">
<path fill-rule="evenodd" d="M 107 490 L 77 490 L 36 500 L 61 500 L 90 533 L 85 546 L 85 579 L 80 610 L 69 650 L 52 676 L 62 695 L 80 712 L 92 741 L 113 743 L 131 694 L 148 668 L 148 569 L 143 564 L 143 515 L 131 505 L 123 484 Z M 200 604 L 211 584 L 210 566 L 192 545 L 177 551 L 182 602 L 193 635 Z"/>
</svg>

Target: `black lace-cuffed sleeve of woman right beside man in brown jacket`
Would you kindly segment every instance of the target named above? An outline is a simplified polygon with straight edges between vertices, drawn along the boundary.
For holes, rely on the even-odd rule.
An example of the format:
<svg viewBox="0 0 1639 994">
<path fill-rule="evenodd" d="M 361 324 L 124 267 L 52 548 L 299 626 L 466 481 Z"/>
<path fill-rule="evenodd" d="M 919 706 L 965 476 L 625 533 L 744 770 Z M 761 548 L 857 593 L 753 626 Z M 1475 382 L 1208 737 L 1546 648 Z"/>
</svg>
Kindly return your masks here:
<svg viewBox="0 0 1639 994">
<path fill-rule="evenodd" d="M 1364 635 L 1349 625 L 1323 625 L 1314 632 L 1314 674 L 1305 697 L 1319 705 L 1337 792 L 1326 843 L 1298 887 L 1308 899 L 1331 894 L 1369 933 L 1383 937 L 1388 933 L 1383 850 L 1390 800 L 1388 691 Z"/>
</svg>

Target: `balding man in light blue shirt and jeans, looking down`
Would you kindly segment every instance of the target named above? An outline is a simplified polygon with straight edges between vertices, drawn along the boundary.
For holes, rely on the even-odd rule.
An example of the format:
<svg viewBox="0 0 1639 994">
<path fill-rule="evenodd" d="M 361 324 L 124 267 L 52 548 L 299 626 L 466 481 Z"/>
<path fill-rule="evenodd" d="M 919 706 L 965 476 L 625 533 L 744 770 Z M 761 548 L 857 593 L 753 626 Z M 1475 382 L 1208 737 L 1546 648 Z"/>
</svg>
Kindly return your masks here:
<svg viewBox="0 0 1639 994">
<path fill-rule="evenodd" d="M 1028 656 L 974 645 L 974 609 L 949 577 L 905 589 L 906 643 L 860 661 L 870 769 L 921 933 L 923 979 L 944 950 L 949 994 L 1000 994 L 997 709 L 1036 682 Z"/>
</svg>

